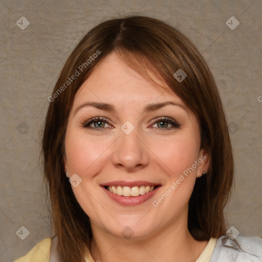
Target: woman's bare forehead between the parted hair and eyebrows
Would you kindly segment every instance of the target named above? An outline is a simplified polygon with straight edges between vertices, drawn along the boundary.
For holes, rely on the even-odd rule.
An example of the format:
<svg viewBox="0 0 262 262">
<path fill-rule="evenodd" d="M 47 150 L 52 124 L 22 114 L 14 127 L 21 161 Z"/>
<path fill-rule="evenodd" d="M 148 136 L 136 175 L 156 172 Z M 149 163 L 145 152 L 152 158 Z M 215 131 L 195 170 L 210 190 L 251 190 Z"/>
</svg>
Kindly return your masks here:
<svg viewBox="0 0 262 262">
<path fill-rule="evenodd" d="M 150 78 L 155 83 L 128 67 L 116 53 L 111 53 L 82 84 L 75 96 L 75 102 L 79 104 L 88 99 L 116 105 L 143 105 L 148 102 L 173 100 L 185 106 L 182 99 L 171 91 L 163 80 L 154 75 L 150 75 Z"/>
</svg>

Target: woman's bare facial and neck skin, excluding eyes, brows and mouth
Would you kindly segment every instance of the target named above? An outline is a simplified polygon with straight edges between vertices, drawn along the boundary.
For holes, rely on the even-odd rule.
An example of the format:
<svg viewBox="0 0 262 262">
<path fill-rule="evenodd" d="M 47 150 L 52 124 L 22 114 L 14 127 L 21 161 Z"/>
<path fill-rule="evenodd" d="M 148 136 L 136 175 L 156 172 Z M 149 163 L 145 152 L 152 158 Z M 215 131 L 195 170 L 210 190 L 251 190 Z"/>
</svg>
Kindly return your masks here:
<svg viewBox="0 0 262 262">
<path fill-rule="evenodd" d="M 168 86 L 157 89 L 151 82 L 127 67 L 112 53 L 96 67 L 77 92 L 65 136 L 64 168 L 70 176 L 77 173 L 82 182 L 73 192 L 90 217 L 93 231 L 91 254 L 94 260 L 107 261 L 195 261 L 207 241 L 195 241 L 187 228 L 188 201 L 195 180 L 208 170 L 209 157 L 200 148 L 200 127 L 195 116 Z M 86 102 L 105 102 L 115 106 L 107 112 Z M 173 101 L 156 111 L 143 113 L 145 105 Z M 110 120 L 109 124 L 91 124 L 93 117 Z M 166 122 L 153 123 L 160 117 L 177 121 L 180 127 Z M 135 129 L 126 135 L 121 126 L 129 121 Z M 161 122 L 161 121 L 160 121 Z M 101 125 L 101 123 L 100 123 Z M 152 205 L 191 167 L 206 158 L 170 195 Z M 154 197 L 136 206 L 120 205 L 105 194 L 99 184 L 110 181 L 150 181 L 162 187 Z M 134 234 L 124 238 L 122 230 Z"/>
</svg>

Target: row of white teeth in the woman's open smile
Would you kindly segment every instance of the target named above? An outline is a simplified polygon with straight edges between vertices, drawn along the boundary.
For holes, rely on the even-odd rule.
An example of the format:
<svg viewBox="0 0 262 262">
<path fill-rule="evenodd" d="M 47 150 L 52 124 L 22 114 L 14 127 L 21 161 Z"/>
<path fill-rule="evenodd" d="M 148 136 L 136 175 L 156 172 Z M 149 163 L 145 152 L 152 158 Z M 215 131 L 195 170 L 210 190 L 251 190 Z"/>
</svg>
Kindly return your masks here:
<svg viewBox="0 0 262 262">
<path fill-rule="evenodd" d="M 123 195 L 124 197 L 138 197 L 139 195 L 143 195 L 151 192 L 155 189 L 154 186 L 107 186 L 107 190 L 114 194 Z"/>
</svg>

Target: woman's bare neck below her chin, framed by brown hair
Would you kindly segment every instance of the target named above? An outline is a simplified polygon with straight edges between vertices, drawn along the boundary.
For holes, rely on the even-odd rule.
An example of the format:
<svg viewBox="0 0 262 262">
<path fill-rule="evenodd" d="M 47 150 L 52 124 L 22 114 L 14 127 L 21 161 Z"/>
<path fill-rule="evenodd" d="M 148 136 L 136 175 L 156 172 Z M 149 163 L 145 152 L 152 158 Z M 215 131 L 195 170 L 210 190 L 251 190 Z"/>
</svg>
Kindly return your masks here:
<svg viewBox="0 0 262 262">
<path fill-rule="evenodd" d="M 91 255 L 94 261 L 194 262 L 207 245 L 196 241 L 187 229 L 187 221 L 176 221 L 145 237 L 119 238 L 92 225 Z"/>
</svg>

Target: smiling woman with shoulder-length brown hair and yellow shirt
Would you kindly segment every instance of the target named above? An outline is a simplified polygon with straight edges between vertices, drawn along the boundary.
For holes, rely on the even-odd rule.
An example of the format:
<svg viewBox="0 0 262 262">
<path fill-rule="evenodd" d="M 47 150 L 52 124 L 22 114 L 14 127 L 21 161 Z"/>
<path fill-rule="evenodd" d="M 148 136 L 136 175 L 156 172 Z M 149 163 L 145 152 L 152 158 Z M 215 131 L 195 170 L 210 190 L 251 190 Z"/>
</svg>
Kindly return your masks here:
<svg viewBox="0 0 262 262">
<path fill-rule="evenodd" d="M 183 34 L 149 17 L 107 20 L 79 42 L 48 100 L 56 236 L 16 261 L 261 261 L 260 238 L 226 234 L 227 122 Z"/>
</svg>

